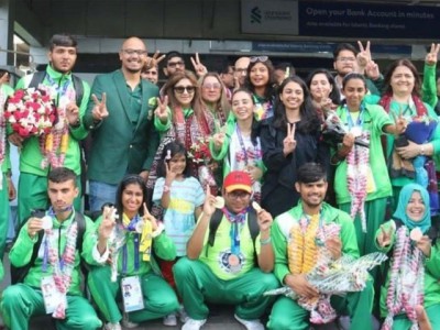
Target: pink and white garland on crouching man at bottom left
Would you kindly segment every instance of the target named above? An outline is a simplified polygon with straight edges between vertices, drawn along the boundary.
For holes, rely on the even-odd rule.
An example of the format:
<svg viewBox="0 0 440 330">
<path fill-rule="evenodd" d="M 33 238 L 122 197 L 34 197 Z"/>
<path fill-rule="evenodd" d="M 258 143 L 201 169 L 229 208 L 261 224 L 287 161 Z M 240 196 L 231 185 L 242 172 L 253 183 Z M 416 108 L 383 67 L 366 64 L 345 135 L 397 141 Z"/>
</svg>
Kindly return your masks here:
<svg viewBox="0 0 440 330">
<path fill-rule="evenodd" d="M 72 283 L 72 272 L 75 267 L 75 252 L 76 240 L 78 235 L 78 224 L 76 221 L 72 222 L 66 232 L 66 246 L 64 248 L 62 260 L 59 260 L 57 251 L 57 242 L 54 232 L 51 229 L 45 230 L 46 242 L 48 244 L 48 262 L 53 270 L 53 277 L 56 289 L 65 297 Z M 55 308 L 53 317 L 55 319 L 64 319 L 66 317 L 66 299 L 62 299 L 59 305 Z"/>
</svg>

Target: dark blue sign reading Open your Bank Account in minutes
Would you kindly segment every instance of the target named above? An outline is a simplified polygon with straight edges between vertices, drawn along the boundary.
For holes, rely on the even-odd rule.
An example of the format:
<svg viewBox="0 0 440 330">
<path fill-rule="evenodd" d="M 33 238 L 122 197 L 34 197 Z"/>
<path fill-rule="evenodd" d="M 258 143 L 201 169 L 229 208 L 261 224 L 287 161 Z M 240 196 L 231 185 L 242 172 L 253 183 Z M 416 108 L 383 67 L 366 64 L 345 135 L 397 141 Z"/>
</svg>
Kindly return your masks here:
<svg viewBox="0 0 440 330">
<path fill-rule="evenodd" d="M 440 37 L 440 8 L 437 7 L 300 1 L 298 20 L 301 36 Z"/>
</svg>

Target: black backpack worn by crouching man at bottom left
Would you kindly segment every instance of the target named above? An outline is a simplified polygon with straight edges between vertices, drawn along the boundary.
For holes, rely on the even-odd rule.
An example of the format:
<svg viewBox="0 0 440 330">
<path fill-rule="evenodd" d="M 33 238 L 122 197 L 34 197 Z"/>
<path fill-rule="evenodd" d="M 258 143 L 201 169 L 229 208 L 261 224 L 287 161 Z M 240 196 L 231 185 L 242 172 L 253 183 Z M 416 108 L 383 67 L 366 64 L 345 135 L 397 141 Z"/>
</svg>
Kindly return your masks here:
<svg viewBox="0 0 440 330">
<path fill-rule="evenodd" d="M 44 216 L 45 216 L 44 210 L 35 210 L 32 212 L 30 218 L 32 218 L 32 217 L 43 218 Z M 24 226 L 24 223 L 28 222 L 28 220 L 23 222 L 23 226 Z M 84 216 L 81 213 L 75 212 L 74 221 L 76 221 L 77 226 L 78 226 L 78 234 L 76 237 L 76 246 L 77 246 L 77 250 L 80 255 L 82 252 L 82 238 L 84 238 L 84 233 L 86 231 L 86 219 L 84 218 Z M 20 232 L 20 230 L 18 232 Z M 31 260 L 26 265 L 21 266 L 21 267 L 15 267 L 14 265 L 11 264 L 11 284 L 22 283 L 24 280 L 24 277 L 26 277 L 29 270 L 31 270 L 31 267 L 35 264 L 35 260 L 38 256 L 38 250 L 40 250 L 40 246 L 43 241 L 43 234 L 44 234 L 43 230 L 38 231 L 38 238 L 32 250 Z M 84 275 L 87 276 L 88 268 L 85 265 L 85 263 L 82 262 L 82 260 L 80 262 L 80 268 L 81 268 Z"/>
</svg>

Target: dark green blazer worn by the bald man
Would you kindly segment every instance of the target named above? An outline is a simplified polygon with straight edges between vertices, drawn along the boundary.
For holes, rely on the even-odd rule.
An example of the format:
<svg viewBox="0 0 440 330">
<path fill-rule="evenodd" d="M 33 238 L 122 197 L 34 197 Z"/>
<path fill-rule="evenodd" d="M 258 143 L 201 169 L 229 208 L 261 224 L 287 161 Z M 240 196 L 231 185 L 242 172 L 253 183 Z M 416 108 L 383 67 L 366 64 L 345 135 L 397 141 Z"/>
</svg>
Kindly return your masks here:
<svg viewBox="0 0 440 330">
<path fill-rule="evenodd" d="M 89 101 L 85 125 L 92 130 L 92 147 L 88 163 L 88 177 L 117 185 L 128 174 L 150 170 L 158 146 L 158 134 L 153 125 L 158 88 L 141 79 L 141 112 L 136 123 L 130 119 L 130 95 L 120 69 L 99 75 L 91 92 L 101 98 L 107 94 L 109 117 L 96 124 L 92 118 L 95 102 Z"/>
</svg>

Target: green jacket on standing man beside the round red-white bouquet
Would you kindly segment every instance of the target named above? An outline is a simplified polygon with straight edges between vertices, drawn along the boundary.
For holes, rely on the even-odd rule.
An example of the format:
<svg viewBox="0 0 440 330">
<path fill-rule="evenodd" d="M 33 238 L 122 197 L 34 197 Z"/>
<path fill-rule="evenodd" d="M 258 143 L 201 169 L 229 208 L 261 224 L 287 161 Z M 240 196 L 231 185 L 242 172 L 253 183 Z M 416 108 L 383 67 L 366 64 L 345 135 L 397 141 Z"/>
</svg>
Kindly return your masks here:
<svg viewBox="0 0 440 330">
<path fill-rule="evenodd" d="M 47 76 L 51 76 L 52 79 L 58 85 L 63 86 L 66 80 L 72 80 L 72 73 L 69 74 L 62 74 L 52 68 L 51 65 L 46 67 L 46 78 L 43 80 L 43 85 L 50 86 L 47 80 Z M 33 75 L 24 76 L 19 80 L 15 86 L 15 89 L 23 89 L 28 88 L 29 84 L 32 80 Z M 80 150 L 79 150 L 79 141 L 85 139 L 88 134 L 88 131 L 84 128 L 82 120 L 84 114 L 86 112 L 87 102 L 90 97 L 90 87 L 89 85 L 82 80 L 82 89 L 84 96 L 81 100 L 81 105 L 79 106 L 79 119 L 81 124 L 78 128 L 69 128 L 69 141 L 68 147 L 66 152 L 66 158 L 64 162 L 64 166 L 74 170 L 77 175 L 80 174 Z M 10 131 L 11 132 L 11 131 Z M 41 168 L 41 162 L 43 160 L 43 155 L 40 151 L 40 139 L 38 138 L 29 138 L 23 142 L 23 148 L 21 150 L 20 154 L 20 172 L 34 174 L 37 176 L 47 176 L 50 170 L 50 166 L 45 169 Z"/>
</svg>

